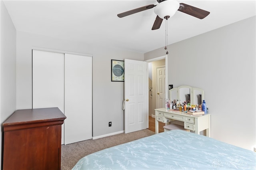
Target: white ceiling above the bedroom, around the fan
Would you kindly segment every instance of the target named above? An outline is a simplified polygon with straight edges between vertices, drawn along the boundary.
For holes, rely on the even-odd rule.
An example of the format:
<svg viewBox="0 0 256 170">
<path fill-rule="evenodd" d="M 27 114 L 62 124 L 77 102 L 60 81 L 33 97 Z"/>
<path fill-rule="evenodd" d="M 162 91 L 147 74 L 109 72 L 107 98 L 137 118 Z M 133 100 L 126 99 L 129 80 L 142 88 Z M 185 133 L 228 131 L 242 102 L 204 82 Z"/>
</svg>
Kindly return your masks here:
<svg viewBox="0 0 256 170">
<path fill-rule="evenodd" d="M 200 20 L 177 11 L 168 20 L 168 44 L 256 15 L 255 0 L 178 0 L 210 14 Z M 154 8 L 124 18 L 117 14 L 158 4 L 156 0 L 12 1 L 4 4 L 17 31 L 30 32 L 91 45 L 115 46 L 148 52 L 164 47 L 165 22 L 151 30 Z"/>
</svg>

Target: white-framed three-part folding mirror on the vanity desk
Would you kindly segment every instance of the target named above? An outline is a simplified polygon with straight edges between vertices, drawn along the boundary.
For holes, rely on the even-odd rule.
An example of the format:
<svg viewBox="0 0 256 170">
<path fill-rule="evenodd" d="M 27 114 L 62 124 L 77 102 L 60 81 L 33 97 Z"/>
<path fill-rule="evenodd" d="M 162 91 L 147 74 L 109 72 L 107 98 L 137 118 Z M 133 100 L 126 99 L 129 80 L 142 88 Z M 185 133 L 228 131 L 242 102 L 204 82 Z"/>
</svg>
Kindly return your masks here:
<svg viewBox="0 0 256 170">
<path fill-rule="evenodd" d="M 170 101 L 180 100 L 188 102 L 192 105 L 200 105 L 204 100 L 204 90 L 190 86 L 180 86 L 169 90 Z"/>
</svg>

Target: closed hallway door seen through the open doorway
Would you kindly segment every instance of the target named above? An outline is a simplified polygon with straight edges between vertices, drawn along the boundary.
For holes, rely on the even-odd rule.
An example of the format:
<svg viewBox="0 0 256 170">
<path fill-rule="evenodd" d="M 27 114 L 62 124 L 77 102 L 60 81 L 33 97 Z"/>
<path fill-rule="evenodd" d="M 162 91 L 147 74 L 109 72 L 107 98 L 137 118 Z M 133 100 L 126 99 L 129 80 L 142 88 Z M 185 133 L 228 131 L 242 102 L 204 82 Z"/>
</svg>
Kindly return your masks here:
<svg viewBox="0 0 256 170">
<path fill-rule="evenodd" d="M 156 68 L 156 109 L 165 107 L 166 91 L 166 69 L 165 67 Z"/>
</svg>

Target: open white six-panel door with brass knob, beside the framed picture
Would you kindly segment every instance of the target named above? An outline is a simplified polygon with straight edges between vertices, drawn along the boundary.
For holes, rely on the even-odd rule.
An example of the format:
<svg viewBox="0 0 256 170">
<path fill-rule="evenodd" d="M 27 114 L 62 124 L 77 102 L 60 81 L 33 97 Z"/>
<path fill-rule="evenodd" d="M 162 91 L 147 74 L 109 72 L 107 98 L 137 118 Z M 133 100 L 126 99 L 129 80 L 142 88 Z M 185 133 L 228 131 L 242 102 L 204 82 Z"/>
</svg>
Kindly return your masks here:
<svg viewBox="0 0 256 170">
<path fill-rule="evenodd" d="M 148 63 L 124 59 L 124 133 L 148 127 Z"/>
</svg>

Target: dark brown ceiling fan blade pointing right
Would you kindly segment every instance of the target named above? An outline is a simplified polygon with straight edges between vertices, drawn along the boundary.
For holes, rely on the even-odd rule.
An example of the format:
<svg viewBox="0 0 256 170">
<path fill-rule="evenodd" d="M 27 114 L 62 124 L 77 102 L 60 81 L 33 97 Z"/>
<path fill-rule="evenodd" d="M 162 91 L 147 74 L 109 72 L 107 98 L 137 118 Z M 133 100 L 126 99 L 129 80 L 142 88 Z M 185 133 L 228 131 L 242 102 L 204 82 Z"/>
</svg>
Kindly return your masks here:
<svg viewBox="0 0 256 170">
<path fill-rule="evenodd" d="M 180 8 L 178 9 L 180 12 L 184 12 L 188 15 L 194 16 L 199 19 L 203 19 L 210 14 L 210 12 L 202 10 L 200 8 L 196 8 L 194 6 L 190 6 L 187 4 L 180 3 Z"/>
</svg>

